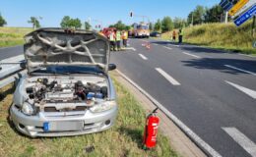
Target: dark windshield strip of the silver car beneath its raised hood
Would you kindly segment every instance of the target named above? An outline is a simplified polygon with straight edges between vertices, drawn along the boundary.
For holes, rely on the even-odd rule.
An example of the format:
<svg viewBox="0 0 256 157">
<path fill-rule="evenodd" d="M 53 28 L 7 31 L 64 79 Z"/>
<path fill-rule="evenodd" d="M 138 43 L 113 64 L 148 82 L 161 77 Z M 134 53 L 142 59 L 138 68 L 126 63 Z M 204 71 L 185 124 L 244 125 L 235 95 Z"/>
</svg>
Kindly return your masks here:
<svg viewBox="0 0 256 157">
<path fill-rule="evenodd" d="M 47 66 L 33 71 L 33 73 L 46 74 L 102 74 L 98 66 Z"/>
</svg>

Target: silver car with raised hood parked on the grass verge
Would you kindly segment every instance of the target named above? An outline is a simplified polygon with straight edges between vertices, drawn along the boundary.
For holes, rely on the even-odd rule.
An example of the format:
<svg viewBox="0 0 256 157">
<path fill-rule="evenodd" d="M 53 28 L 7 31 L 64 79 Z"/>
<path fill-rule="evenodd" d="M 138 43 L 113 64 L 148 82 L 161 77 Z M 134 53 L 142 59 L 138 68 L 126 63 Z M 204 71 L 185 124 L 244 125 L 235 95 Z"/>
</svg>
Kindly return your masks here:
<svg viewBox="0 0 256 157">
<path fill-rule="evenodd" d="M 10 109 L 18 131 L 67 136 L 104 131 L 117 115 L 108 40 L 94 31 L 40 28 L 25 36 L 28 75 Z"/>
</svg>

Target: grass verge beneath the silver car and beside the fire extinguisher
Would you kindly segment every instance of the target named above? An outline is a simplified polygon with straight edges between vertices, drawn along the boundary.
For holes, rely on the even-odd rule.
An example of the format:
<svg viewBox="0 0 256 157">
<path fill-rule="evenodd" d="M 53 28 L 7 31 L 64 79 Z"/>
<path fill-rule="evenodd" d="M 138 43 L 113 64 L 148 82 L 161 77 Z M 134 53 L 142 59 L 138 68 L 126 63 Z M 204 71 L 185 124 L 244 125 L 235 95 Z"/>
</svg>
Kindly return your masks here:
<svg viewBox="0 0 256 157">
<path fill-rule="evenodd" d="M 158 146 L 154 150 L 141 149 L 145 111 L 124 86 L 116 80 L 114 84 L 118 95 L 119 112 L 113 128 L 93 134 L 52 138 L 29 138 L 18 134 L 7 121 L 13 88 L 9 85 L 0 89 L 3 93 L 0 97 L 0 156 L 177 156 L 169 146 L 168 138 L 161 133 L 158 136 Z M 95 150 L 87 153 L 85 147 L 92 145 Z"/>
</svg>

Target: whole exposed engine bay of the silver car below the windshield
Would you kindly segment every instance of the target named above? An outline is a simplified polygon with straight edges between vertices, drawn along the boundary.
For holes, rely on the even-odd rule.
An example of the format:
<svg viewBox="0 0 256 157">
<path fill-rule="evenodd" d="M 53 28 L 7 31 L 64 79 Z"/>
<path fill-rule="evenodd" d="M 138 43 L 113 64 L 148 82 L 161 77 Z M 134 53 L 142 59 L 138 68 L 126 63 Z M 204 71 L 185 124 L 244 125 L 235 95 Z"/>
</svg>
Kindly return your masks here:
<svg viewBox="0 0 256 157">
<path fill-rule="evenodd" d="M 27 80 L 28 102 L 35 106 L 45 104 L 83 103 L 92 106 L 108 96 L 106 78 L 31 78 Z"/>
</svg>

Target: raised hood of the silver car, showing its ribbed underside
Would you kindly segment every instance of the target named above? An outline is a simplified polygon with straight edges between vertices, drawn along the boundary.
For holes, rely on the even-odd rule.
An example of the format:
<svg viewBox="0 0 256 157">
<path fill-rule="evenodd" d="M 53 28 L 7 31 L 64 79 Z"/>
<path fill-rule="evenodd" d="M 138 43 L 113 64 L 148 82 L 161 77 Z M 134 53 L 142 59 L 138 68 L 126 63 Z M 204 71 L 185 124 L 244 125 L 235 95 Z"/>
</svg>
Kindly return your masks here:
<svg viewBox="0 0 256 157">
<path fill-rule="evenodd" d="M 95 65 L 107 73 L 109 42 L 95 31 L 39 28 L 27 34 L 25 40 L 29 73 L 48 65 Z"/>
</svg>

